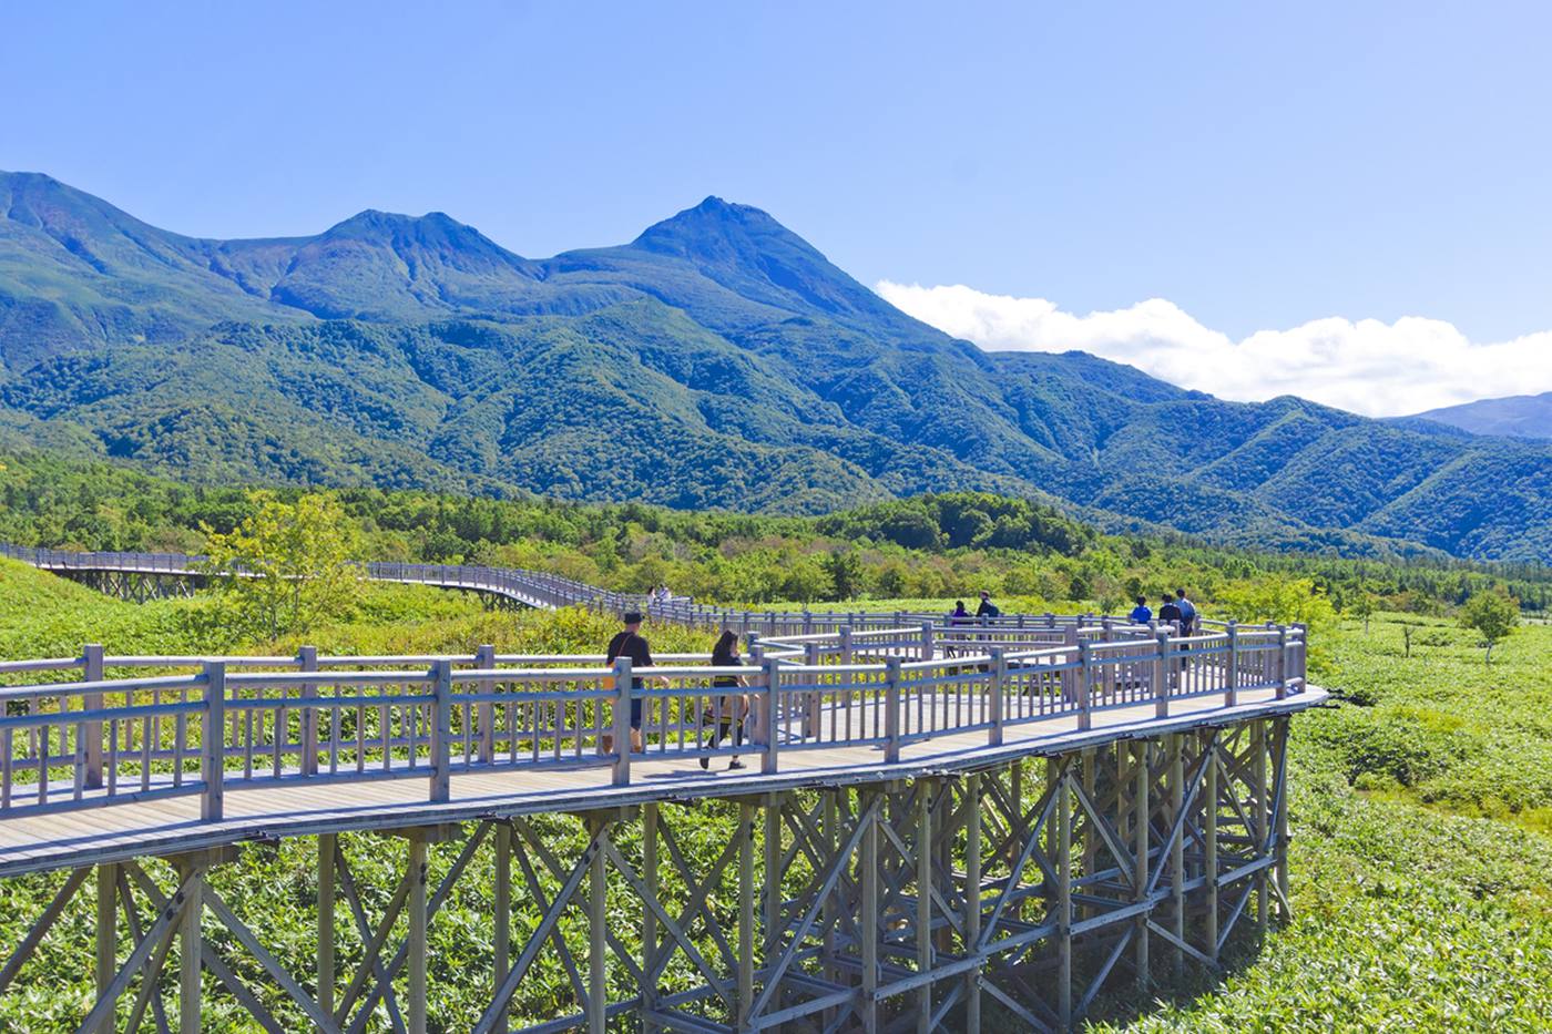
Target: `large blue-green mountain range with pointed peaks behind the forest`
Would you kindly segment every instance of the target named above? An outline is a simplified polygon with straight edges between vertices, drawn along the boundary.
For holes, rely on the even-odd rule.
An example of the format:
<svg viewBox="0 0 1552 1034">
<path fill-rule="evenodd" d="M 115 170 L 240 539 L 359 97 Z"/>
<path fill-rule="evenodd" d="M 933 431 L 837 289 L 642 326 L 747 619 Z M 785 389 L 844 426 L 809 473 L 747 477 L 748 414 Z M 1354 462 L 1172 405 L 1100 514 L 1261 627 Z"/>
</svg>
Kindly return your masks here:
<svg viewBox="0 0 1552 1034">
<path fill-rule="evenodd" d="M 1552 560 L 1552 444 L 986 352 L 717 197 L 548 259 L 441 213 L 188 238 L 39 174 L 0 174 L 0 446 L 776 512 L 987 489 L 1240 543 Z"/>
</svg>

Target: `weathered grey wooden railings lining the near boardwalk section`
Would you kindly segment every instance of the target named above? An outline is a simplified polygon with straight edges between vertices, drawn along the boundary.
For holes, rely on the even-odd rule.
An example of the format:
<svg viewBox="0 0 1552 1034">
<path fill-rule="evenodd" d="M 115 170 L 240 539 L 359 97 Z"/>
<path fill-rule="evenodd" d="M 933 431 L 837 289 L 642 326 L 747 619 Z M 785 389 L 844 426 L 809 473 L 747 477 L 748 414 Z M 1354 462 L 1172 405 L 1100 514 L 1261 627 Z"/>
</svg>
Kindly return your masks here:
<svg viewBox="0 0 1552 1034">
<path fill-rule="evenodd" d="M 1027 638 L 1021 633 L 1031 632 Z M 1040 637 L 1060 633 L 1044 644 Z M 1009 728 L 1248 691 L 1304 691 L 1304 630 L 1245 627 L 1193 637 L 1113 623 L 841 627 L 750 637 L 750 663 L 705 655 L 607 666 L 601 655 L 512 655 L 483 646 L 452 657 L 79 657 L 0 663 L 0 818 L 120 801 L 199 795 L 220 820 L 233 787 L 427 779 L 447 801 L 459 773 L 611 770 L 743 755 L 776 773 L 795 751 L 902 747 L 945 736 L 1003 744 Z M 1069 640 L 1069 641 L 1068 641 Z M 954 657 L 939 655 L 954 643 Z M 149 674 L 124 674 L 137 669 Z M 120 677 L 109 678 L 106 672 Z M 737 689 L 712 685 L 743 680 Z M 39 678 L 70 682 L 36 682 Z M 641 683 L 639 686 L 636 683 Z M 1265 694 L 1262 694 L 1265 696 Z M 630 750 L 632 700 L 643 744 Z M 748 708 L 750 742 L 705 733 Z M 736 714 L 734 714 L 736 713 Z M 877 761 L 871 762 L 877 764 Z"/>
</svg>

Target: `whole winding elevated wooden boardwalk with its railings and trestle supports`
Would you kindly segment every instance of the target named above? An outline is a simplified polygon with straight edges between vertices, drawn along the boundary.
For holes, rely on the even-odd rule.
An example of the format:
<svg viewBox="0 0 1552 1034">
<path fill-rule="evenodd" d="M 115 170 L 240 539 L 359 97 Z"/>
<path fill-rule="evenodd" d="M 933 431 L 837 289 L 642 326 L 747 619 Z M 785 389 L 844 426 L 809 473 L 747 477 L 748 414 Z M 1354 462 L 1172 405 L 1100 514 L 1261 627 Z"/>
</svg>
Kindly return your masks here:
<svg viewBox="0 0 1552 1034">
<path fill-rule="evenodd" d="M 130 598 L 205 578 L 178 554 L 3 551 Z M 268 1029 L 286 1029 L 281 1015 L 376 1029 L 374 1009 L 393 1000 L 405 1029 L 424 1031 L 438 997 L 425 927 L 466 877 L 494 894 L 494 994 L 478 1018 L 438 1022 L 476 1031 L 602 1031 L 627 1012 L 688 1031 L 874 1031 L 909 1015 L 916 1029 L 979 1029 L 989 998 L 1032 1029 L 1057 1029 L 1116 972 L 1147 987 L 1186 966 L 1215 969 L 1242 919 L 1265 932 L 1274 911 L 1287 916 L 1288 719 L 1325 699 L 1305 682 L 1299 626 L 1206 623 L 1178 637 L 1096 616 L 948 624 L 652 605 L 504 568 L 365 573 L 521 605 L 636 605 L 739 632 L 747 663 L 669 655 L 632 669 L 494 646 L 123 657 L 96 644 L 0 663 L 0 876 L 70 873 L 0 970 L 0 991 L 93 874 L 88 1031 L 123 1026 L 135 1008 L 126 992 L 146 986 L 140 975 L 166 961 L 175 932 L 194 973 L 186 1023 L 199 1022 L 203 966 Z M 708 734 L 736 722 L 740 745 Z M 736 755 L 745 767 L 728 770 Z M 717 857 L 683 849 L 705 814 L 726 817 Z M 573 817 L 577 834 L 556 840 L 537 815 Z M 332 919 L 340 845 L 374 834 L 402 838 L 405 882 L 383 933 L 359 916 L 369 950 L 345 966 Z M 242 843 L 275 837 L 318 840 L 320 953 L 306 980 L 205 879 Z M 464 849 L 428 893 L 427 849 L 445 840 Z M 483 843 L 494 869 L 472 874 Z M 515 893 L 520 851 L 542 859 L 553 891 Z M 172 860 L 178 885 L 157 887 L 147 857 Z M 672 880 L 660 880 L 664 868 Z M 736 900 L 697 904 L 695 888 L 723 879 Z M 608 927 L 610 885 L 639 900 L 638 930 Z M 116 924 L 132 888 L 161 900 L 166 921 L 135 921 L 126 953 Z M 273 1001 L 236 989 L 199 935 L 205 911 L 270 973 Z M 410 932 L 394 944 L 400 913 Z M 585 946 L 562 936 L 563 914 Z M 574 977 L 570 1015 L 528 1014 L 518 981 L 542 953 Z"/>
</svg>

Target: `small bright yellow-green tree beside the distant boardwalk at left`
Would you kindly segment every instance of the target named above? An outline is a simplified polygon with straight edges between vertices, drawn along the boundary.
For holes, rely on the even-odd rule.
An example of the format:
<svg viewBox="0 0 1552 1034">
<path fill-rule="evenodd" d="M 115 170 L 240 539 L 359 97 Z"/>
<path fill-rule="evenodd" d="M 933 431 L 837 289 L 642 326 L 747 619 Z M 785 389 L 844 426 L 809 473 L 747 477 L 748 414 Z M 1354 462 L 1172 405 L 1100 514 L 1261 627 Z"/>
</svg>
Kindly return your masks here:
<svg viewBox="0 0 1552 1034">
<path fill-rule="evenodd" d="M 355 525 L 329 495 L 286 503 L 250 492 L 248 515 L 228 534 L 205 526 L 210 559 L 233 630 L 276 638 L 306 632 L 349 605 L 360 581 L 351 564 Z"/>
</svg>

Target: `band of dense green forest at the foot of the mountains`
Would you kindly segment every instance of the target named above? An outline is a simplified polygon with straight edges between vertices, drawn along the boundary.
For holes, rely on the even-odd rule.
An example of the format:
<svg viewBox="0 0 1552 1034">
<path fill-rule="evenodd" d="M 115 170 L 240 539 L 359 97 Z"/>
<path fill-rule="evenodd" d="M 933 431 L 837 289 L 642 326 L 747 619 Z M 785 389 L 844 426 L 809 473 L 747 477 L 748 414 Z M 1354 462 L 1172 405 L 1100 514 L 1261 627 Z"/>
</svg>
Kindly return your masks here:
<svg viewBox="0 0 1552 1034">
<path fill-rule="evenodd" d="M 251 489 L 203 488 L 102 463 L 3 456 L 0 540 L 79 550 L 202 551 L 253 508 Z M 279 489 L 282 498 L 301 489 Z M 1336 609 L 1439 613 L 1487 587 L 1526 612 L 1552 604 L 1552 571 L 1439 554 L 1389 560 L 1277 554 L 1176 533 L 1107 534 L 1049 506 L 982 492 L 889 500 L 819 517 L 686 512 L 424 491 L 331 494 L 359 526 L 362 559 L 551 570 L 619 590 L 740 604 L 864 598 L 945 599 L 981 588 L 1024 609 L 1119 610 L 1189 585 L 1307 581 Z"/>
</svg>

